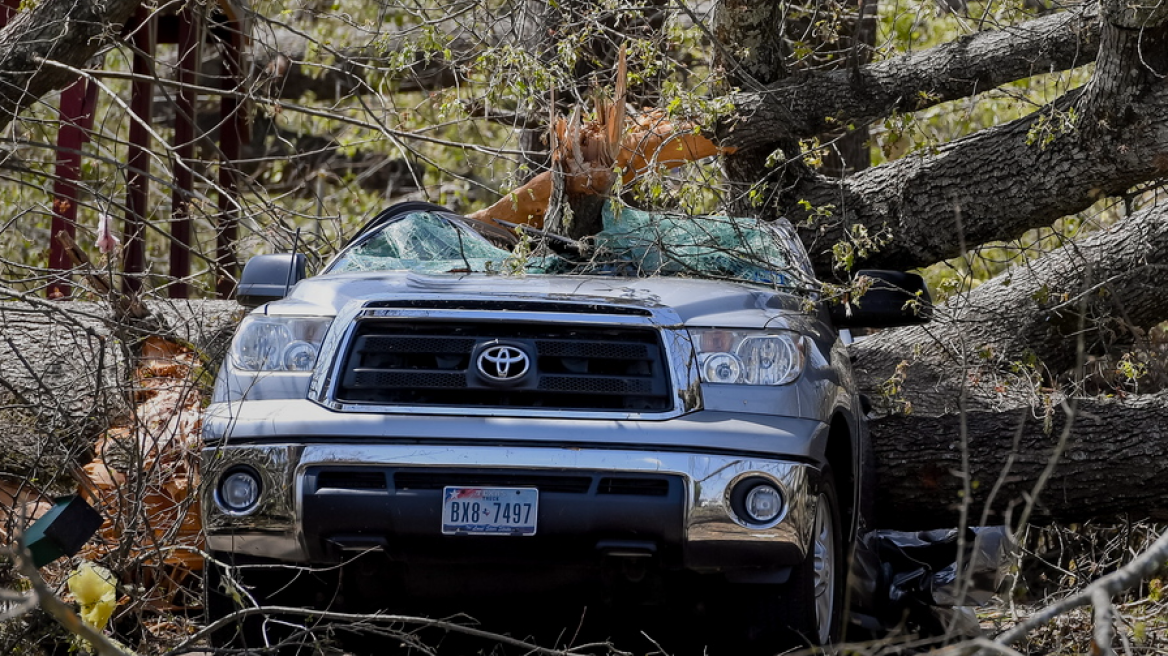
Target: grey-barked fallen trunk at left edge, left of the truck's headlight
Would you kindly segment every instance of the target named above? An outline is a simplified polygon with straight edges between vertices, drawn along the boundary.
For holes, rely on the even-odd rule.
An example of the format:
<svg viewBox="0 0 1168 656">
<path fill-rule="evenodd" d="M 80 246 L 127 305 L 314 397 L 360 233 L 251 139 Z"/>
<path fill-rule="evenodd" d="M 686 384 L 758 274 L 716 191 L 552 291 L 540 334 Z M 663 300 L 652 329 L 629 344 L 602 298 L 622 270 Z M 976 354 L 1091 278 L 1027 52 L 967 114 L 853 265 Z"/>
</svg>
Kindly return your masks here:
<svg viewBox="0 0 1168 656">
<path fill-rule="evenodd" d="M 242 314 L 234 301 L 151 309 L 148 323 L 130 324 L 105 303 L 0 303 L 0 477 L 55 489 L 105 430 L 128 417 L 138 341 L 160 334 L 188 344 L 214 371 Z"/>
</svg>

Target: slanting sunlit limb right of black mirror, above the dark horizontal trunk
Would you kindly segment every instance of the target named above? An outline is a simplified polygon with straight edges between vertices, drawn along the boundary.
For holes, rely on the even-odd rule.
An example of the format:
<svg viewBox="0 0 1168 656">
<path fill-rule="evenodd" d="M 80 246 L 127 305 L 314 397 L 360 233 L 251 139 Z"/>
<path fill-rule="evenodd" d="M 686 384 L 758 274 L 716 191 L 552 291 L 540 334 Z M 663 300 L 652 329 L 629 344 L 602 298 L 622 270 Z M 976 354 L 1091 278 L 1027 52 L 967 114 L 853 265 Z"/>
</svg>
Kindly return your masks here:
<svg viewBox="0 0 1168 656">
<path fill-rule="evenodd" d="M 1121 354 L 1168 320 L 1156 264 L 1166 252 L 1168 209 L 1155 207 L 1015 266 L 954 296 L 932 323 L 855 344 L 861 386 L 918 416 L 1030 405 L 1075 365 L 1079 339 L 1087 354 Z"/>
</svg>

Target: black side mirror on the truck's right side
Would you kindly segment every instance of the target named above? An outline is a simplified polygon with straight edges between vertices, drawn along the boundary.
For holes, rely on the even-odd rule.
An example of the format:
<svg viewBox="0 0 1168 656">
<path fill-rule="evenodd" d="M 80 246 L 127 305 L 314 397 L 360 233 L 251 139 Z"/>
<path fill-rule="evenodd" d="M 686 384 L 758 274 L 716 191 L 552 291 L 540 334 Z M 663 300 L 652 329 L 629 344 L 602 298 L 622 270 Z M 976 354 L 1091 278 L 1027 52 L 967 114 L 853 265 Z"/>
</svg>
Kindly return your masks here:
<svg viewBox="0 0 1168 656">
<path fill-rule="evenodd" d="M 932 320 L 933 300 L 924 278 L 877 270 L 857 271 L 856 275 L 870 278 L 871 286 L 858 299 L 832 303 L 836 328 L 895 328 Z"/>
</svg>

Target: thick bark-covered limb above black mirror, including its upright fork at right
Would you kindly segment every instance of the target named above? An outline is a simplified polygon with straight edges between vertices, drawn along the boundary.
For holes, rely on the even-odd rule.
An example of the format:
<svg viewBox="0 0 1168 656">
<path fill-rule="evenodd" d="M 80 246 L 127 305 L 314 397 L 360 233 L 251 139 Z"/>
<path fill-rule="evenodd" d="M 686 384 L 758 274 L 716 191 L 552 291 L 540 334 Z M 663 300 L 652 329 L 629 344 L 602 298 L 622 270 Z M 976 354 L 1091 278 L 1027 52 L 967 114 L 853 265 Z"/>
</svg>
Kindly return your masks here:
<svg viewBox="0 0 1168 656">
<path fill-rule="evenodd" d="M 858 264 L 925 266 L 1168 173 L 1168 30 L 1108 25 L 1103 41 L 1091 83 L 1030 117 L 846 180 L 801 175 L 785 197 L 812 210 L 793 218 L 832 215 L 802 232 L 819 270 L 856 225 L 892 235 Z"/>
</svg>

